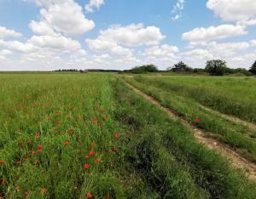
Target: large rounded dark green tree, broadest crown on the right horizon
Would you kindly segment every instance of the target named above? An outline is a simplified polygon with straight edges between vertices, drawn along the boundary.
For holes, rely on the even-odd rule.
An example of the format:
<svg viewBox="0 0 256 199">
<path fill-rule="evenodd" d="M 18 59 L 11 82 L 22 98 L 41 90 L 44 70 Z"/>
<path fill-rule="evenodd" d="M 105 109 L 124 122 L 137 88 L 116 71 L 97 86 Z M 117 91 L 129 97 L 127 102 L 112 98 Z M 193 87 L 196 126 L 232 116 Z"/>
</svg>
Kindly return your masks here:
<svg viewBox="0 0 256 199">
<path fill-rule="evenodd" d="M 227 70 L 227 65 L 224 60 L 208 60 L 205 70 L 212 76 L 223 76 Z"/>
</svg>

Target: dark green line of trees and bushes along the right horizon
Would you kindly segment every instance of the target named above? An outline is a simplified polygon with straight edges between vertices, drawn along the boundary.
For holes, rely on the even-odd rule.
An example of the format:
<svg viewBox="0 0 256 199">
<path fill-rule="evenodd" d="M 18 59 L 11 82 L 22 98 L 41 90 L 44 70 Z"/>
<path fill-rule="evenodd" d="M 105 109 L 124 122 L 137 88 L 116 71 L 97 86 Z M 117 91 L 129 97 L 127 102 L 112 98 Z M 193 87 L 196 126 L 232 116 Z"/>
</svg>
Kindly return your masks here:
<svg viewBox="0 0 256 199">
<path fill-rule="evenodd" d="M 157 66 L 155 65 L 141 65 L 132 68 L 131 70 L 126 70 L 123 72 L 131 72 L 135 74 L 146 73 L 146 72 L 157 72 Z M 167 68 L 166 71 L 172 72 L 183 72 L 183 73 L 208 73 L 212 76 L 224 76 L 225 74 L 244 74 L 244 75 L 256 75 L 256 60 L 249 70 L 245 68 L 229 68 L 227 67 L 227 63 L 224 60 L 208 60 L 206 67 L 204 69 L 201 68 L 191 68 L 189 65 L 183 63 L 183 61 L 178 62 L 172 67 Z"/>
</svg>

